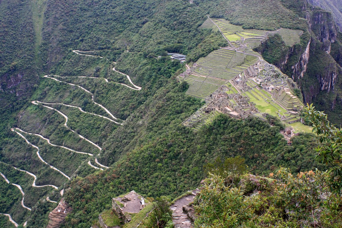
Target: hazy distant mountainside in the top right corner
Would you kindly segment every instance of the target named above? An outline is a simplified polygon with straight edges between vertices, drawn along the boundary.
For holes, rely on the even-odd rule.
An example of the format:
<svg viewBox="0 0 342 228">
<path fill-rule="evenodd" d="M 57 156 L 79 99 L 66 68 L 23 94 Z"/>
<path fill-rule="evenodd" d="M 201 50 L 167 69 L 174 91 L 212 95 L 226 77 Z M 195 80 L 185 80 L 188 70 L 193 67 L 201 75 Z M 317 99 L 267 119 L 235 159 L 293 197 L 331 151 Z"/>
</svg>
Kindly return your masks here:
<svg viewBox="0 0 342 228">
<path fill-rule="evenodd" d="M 310 0 L 312 5 L 318 6 L 332 13 L 337 26 L 342 31 L 342 2 L 339 0 Z"/>
</svg>

